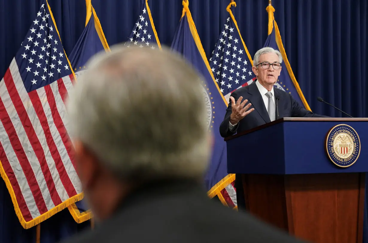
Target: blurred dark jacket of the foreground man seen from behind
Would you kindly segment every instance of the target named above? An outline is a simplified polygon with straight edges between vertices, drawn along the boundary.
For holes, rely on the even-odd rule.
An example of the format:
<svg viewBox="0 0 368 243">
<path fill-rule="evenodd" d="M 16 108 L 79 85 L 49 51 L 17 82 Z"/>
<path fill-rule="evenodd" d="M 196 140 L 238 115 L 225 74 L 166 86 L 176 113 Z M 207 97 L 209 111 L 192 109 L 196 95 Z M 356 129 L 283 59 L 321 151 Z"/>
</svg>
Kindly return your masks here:
<svg viewBox="0 0 368 243">
<path fill-rule="evenodd" d="M 297 243 L 299 240 L 251 215 L 211 201 L 191 181 L 163 181 L 141 187 L 92 231 L 68 243 Z"/>
</svg>

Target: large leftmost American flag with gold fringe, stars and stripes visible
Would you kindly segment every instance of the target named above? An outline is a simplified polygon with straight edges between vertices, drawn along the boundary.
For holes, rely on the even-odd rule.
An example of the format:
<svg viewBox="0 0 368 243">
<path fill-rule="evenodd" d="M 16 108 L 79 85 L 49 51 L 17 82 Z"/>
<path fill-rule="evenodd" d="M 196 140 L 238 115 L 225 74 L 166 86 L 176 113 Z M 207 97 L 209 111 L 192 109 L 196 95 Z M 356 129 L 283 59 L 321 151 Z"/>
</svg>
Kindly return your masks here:
<svg viewBox="0 0 368 243">
<path fill-rule="evenodd" d="M 0 83 L 0 172 L 26 229 L 82 197 L 64 105 L 72 76 L 44 0 Z"/>
</svg>

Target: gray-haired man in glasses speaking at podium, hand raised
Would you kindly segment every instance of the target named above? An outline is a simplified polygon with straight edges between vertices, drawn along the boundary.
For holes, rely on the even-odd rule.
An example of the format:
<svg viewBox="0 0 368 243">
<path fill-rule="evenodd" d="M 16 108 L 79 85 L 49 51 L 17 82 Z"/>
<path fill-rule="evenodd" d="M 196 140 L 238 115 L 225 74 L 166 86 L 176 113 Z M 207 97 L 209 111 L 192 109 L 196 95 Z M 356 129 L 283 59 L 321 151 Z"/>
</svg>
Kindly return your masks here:
<svg viewBox="0 0 368 243">
<path fill-rule="evenodd" d="M 326 117 L 306 110 L 290 94 L 273 88 L 280 76 L 281 63 L 281 53 L 272 47 L 263 47 L 255 53 L 252 70 L 257 79 L 231 93 L 224 121 L 220 125 L 222 137 L 283 117 Z M 235 183 L 238 208 L 245 208 L 243 190 L 239 190 L 242 186 L 240 176 L 236 175 Z"/>
</svg>

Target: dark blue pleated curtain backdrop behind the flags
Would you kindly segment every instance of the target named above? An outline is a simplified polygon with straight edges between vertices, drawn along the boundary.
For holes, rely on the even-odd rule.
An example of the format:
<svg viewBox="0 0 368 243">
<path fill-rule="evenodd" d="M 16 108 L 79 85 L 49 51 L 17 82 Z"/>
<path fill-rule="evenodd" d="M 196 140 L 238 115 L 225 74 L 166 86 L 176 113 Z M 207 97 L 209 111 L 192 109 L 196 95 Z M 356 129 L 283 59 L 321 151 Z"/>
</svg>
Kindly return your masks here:
<svg viewBox="0 0 368 243">
<path fill-rule="evenodd" d="M 226 6 L 230 0 L 189 1 L 209 57 L 227 17 Z M 233 12 L 253 56 L 267 37 L 268 0 L 237 0 L 236 3 Z M 84 29 L 85 0 L 49 0 L 49 4 L 69 54 Z M 92 0 L 110 46 L 127 40 L 139 15 L 139 4 L 136 0 Z M 150 0 L 149 4 L 160 42 L 170 46 L 181 16 L 182 1 Z M 312 111 L 342 116 L 319 103 L 316 97 L 321 96 L 353 117 L 367 117 L 367 0 L 276 0 L 272 5 L 291 67 Z M 39 7 L 39 0 L 0 1 L 1 77 Z M 42 223 L 41 242 L 57 242 L 88 227 L 89 222 L 78 225 L 64 210 Z M 22 228 L 2 180 L 0 242 L 35 242 L 35 227 Z"/>
</svg>

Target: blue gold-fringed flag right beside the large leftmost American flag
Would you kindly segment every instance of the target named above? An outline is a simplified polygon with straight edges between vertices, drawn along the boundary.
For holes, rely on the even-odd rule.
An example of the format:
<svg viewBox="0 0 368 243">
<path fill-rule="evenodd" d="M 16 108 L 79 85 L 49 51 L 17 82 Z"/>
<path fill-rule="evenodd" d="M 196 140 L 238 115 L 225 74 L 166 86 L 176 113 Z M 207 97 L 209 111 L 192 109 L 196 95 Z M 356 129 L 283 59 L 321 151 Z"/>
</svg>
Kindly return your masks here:
<svg viewBox="0 0 368 243">
<path fill-rule="evenodd" d="M 77 82 L 78 76 L 80 77 L 83 71 L 88 68 L 85 64 L 89 58 L 99 51 L 110 50 L 95 9 L 92 7 L 91 0 L 86 0 L 86 7 L 86 26 L 70 54 L 70 63 L 74 69 Z M 92 218 L 91 210 L 89 210 L 85 200 L 70 205 L 68 209 L 77 223 L 82 223 Z"/>
</svg>

